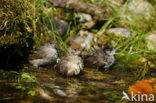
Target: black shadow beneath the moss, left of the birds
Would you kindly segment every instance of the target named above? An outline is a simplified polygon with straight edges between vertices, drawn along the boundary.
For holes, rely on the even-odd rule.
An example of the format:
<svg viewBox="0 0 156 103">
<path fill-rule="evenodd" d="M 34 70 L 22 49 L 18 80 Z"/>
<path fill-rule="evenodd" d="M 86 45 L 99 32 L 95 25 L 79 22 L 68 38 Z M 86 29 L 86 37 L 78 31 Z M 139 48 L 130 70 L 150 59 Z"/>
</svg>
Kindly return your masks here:
<svg viewBox="0 0 156 103">
<path fill-rule="evenodd" d="M 32 50 L 32 38 L 26 39 L 29 46 L 25 44 L 12 44 L 0 46 L 0 69 L 19 70 L 23 64 L 28 63 L 27 57 Z"/>
</svg>

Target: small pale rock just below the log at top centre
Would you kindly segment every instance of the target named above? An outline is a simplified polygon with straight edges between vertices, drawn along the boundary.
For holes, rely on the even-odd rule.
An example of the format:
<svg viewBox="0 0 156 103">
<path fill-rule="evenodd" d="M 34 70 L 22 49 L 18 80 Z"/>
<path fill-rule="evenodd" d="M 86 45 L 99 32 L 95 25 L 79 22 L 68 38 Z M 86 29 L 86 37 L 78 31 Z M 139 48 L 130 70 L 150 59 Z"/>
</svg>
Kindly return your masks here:
<svg viewBox="0 0 156 103">
<path fill-rule="evenodd" d="M 78 13 L 78 19 L 79 19 L 79 22 L 91 21 L 92 16 L 89 14 Z"/>
</svg>

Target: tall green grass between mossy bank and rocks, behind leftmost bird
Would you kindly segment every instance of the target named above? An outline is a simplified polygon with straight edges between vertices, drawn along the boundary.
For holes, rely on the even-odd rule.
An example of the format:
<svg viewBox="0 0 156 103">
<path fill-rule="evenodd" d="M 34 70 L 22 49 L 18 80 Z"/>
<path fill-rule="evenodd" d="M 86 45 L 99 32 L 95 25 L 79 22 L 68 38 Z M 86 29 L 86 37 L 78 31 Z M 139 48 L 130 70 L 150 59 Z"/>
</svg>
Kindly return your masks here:
<svg viewBox="0 0 156 103">
<path fill-rule="evenodd" d="M 33 28 L 33 39 L 35 41 L 34 47 L 36 48 L 40 46 L 43 42 L 49 39 L 54 39 L 57 40 L 59 49 L 62 52 L 66 51 L 67 45 L 60 35 L 54 32 L 52 18 L 55 8 L 48 8 L 50 5 L 47 0 L 34 0 L 30 5 L 33 8 L 28 10 L 28 12 L 31 12 L 29 19 L 32 22 L 30 26 Z"/>
</svg>

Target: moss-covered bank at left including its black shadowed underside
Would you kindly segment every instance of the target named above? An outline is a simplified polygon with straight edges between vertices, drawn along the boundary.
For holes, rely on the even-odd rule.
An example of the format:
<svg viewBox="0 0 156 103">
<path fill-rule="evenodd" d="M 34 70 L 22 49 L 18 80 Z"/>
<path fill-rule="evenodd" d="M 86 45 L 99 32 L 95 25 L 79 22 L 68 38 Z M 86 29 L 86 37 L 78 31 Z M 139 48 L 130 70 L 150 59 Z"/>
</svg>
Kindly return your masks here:
<svg viewBox="0 0 156 103">
<path fill-rule="evenodd" d="M 0 69 L 19 67 L 32 49 L 26 2 L 28 0 L 0 0 Z"/>
</svg>

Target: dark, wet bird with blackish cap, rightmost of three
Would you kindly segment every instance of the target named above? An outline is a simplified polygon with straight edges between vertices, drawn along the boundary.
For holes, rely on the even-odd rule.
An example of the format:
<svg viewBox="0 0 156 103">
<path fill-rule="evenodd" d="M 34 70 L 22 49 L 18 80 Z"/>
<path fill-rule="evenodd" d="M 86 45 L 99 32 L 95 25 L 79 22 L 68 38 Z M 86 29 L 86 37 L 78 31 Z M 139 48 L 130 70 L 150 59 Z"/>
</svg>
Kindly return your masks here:
<svg viewBox="0 0 156 103">
<path fill-rule="evenodd" d="M 105 45 L 83 57 L 84 65 L 89 68 L 107 69 L 115 62 L 116 48 Z"/>
</svg>

